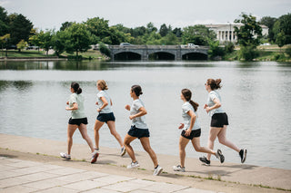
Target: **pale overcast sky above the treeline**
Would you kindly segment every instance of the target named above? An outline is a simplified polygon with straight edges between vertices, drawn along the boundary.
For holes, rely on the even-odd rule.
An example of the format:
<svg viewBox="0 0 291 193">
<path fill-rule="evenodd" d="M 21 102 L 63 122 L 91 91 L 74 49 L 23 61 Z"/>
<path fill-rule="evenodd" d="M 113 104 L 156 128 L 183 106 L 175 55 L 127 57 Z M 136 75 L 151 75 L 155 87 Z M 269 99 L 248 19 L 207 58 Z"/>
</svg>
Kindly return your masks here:
<svg viewBox="0 0 291 193">
<path fill-rule="evenodd" d="M 227 24 L 242 12 L 257 18 L 291 13 L 291 0 L 0 0 L 0 5 L 8 14 L 24 14 L 43 30 L 96 16 L 110 25 L 136 27 L 152 22 L 159 28 L 161 24 Z"/>
</svg>

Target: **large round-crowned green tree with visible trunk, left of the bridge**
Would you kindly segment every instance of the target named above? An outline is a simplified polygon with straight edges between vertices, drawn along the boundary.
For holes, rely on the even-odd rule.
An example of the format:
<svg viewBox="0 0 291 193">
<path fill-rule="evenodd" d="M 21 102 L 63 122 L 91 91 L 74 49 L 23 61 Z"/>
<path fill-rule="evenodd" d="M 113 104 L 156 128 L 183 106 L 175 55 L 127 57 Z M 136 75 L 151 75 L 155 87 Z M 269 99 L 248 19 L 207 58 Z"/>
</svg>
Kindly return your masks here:
<svg viewBox="0 0 291 193">
<path fill-rule="evenodd" d="M 65 29 L 66 41 L 65 51 L 68 53 L 75 52 L 76 59 L 78 53 L 84 53 L 90 48 L 92 43 L 92 34 L 87 30 L 85 24 L 72 24 Z"/>
</svg>

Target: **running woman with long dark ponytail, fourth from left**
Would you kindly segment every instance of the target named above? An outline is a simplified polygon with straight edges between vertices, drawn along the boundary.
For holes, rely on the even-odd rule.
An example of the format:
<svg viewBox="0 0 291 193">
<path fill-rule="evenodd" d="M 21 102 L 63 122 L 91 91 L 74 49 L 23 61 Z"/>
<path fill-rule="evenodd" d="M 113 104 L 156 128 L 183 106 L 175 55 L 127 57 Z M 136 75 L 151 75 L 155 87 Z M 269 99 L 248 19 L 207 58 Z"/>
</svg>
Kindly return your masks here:
<svg viewBox="0 0 291 193">
<path fill-rule="evenodd" d="M 199 104 L 196 101 L 191 100 L 192 92 L 188 89 L 181 91 L 181 100 L 184 101 L 182 105 L 182 117 L 184 123 L 181 123 L 179 129 L 182 130 L 179 140 L 180 151 L 180 164 L 173 166 L 175 171 L 185 172 L 185 158 L 186 158 L 186 145 L 191 140 L 194 149 L 198 152 L 210 153 L 216 156 L 221 163 L 224 162 L 225 157 L 222 155 L 221 150 L 210 150 L 206 147 L 200 146 L 201 128 L 197 120 L 197 109 Z"/>
</svg>

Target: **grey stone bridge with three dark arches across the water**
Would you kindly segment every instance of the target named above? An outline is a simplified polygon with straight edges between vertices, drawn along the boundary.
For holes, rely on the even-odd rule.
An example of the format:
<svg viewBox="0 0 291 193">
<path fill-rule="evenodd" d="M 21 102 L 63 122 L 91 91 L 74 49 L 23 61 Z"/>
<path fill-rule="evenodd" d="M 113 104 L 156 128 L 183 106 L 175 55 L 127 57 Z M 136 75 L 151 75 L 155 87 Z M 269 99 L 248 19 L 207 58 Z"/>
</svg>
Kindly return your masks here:
<svg viewBox="0 0 291 193">
<path fill-rule="evenodd" d="M 207 60 L 208 46 L 181 45 L 110 45 L 114 60 Z"/>
</svg>

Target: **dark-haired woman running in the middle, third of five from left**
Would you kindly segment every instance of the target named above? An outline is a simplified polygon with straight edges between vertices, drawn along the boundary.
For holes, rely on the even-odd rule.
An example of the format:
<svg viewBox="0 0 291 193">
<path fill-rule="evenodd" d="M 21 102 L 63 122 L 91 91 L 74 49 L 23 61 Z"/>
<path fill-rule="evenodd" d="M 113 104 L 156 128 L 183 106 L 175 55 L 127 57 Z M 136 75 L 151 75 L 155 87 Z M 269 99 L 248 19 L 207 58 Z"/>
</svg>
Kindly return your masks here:
<svg viewBox="0 0 291 193">
<path fill-rule="evenodd" d="M 143 101 L 139 99 L 139 96 L 142 94 L 142 88 L 139 85 L 133 85 L 130 90 L 130 96 L 133 98 L 133 103 L 131 106 L 128 104 L 125 105 L 125 109 L 130 111 L 129 119 L 132 120 L 132 125 L 130 130 L 125 136 L 125 149 L 127 154 L 132 159 L 130 165 L 127 166 L 127 169 L 134 169 L 139 167 L 137 160 L 135 159 L 135 151 L 131 147 L 130 143 L 138 138 L 143 145 L 144 150 L 149 154 L 151 159 L 154 162 L 154 175 L 157 176 L 162 172 L 162 167 L 157 163 L 156 153 L 151 148 L 149 143 L 149 130 L 146 125 L 146 108 Z"/>
</svg>

